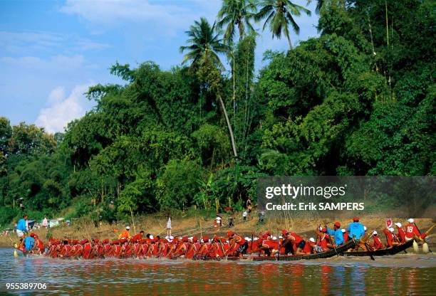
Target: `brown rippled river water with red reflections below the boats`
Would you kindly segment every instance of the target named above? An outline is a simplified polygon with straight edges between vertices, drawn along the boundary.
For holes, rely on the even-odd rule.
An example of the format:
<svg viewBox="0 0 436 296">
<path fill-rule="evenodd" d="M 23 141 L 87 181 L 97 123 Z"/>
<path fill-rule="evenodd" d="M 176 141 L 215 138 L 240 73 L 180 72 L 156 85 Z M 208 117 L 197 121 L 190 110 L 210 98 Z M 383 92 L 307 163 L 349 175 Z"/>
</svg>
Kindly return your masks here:
<svg viewBox="0 0 436 296">
<path fill-rule="evenodd" d="M 45 283 L 46 289 L 7 289 Z M 436 295 L 436 255 L 305 260 L 61 260 L 0 248 L 0 295 Z M 41 285 L 40 285 L 41 286 Z"/>
</svg>

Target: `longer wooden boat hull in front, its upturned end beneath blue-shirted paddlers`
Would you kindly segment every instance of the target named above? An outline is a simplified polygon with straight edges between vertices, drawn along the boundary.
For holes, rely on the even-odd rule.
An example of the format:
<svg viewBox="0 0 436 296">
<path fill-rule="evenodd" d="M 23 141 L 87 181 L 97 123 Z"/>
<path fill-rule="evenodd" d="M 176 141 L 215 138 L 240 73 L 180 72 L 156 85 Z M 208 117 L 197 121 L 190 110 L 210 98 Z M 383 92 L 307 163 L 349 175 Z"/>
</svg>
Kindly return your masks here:
<svg viewBox="0 0 436 296">
<path fill-rule="evenodd" d="M 313 259 L 323 259 L 330 258 L 335 255 L 341 255 L 346 252 L 350 248 L 354 248 L 355 241 L 350 240 L 345 245 L 340 245 L 337 248 L 326 250 L 321 253 L 314 253 L 308 255 L 280 255 L 280 256 L 244 256 L 242 258 L 239 257 L 227 257 L 227 258 L 219 258 L 219 257 L 203 257 L 199 256 L 196 258 L 192 258 L 193 260 L 252 260 L 252 261 L 294 261 L 294 260 L 313 260 Z"/>
</svg>

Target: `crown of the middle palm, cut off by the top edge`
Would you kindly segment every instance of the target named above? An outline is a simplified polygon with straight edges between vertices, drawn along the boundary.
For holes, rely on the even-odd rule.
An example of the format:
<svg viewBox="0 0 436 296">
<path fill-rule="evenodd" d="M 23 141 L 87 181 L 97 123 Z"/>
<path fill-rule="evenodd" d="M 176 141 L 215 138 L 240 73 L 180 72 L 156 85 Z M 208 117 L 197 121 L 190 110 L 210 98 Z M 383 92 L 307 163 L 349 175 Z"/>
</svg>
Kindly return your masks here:
<svg viewBox="0 0 436 296">
<path fill-rule="evenodd" d="M 239 40 L 242 40 L 246 31 L 253 32 L 250 19 L 253 18 L 256 12 L 256 4 L 254 0 L 223 0 L 221 9 L 218 11 L 217 27 L 223 28 L 224 40 L 232 43 L 235 33 L 235 26 L 239 31 Z"/>
</svg>

